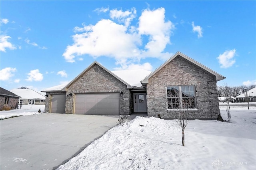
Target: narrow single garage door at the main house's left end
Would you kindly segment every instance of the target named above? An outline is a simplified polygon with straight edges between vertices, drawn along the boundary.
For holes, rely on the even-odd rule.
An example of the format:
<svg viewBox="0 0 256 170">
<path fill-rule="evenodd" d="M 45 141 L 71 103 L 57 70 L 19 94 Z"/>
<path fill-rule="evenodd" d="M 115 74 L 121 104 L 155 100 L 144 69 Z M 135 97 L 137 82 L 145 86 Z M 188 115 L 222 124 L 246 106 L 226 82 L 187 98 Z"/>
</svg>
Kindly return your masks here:
<svg viewBox="0 0 256 170">
<path fill-rule="evenodd" d="M 52 95 L 51 113 L 65 113 L 66 94 Z"/>
</svg>

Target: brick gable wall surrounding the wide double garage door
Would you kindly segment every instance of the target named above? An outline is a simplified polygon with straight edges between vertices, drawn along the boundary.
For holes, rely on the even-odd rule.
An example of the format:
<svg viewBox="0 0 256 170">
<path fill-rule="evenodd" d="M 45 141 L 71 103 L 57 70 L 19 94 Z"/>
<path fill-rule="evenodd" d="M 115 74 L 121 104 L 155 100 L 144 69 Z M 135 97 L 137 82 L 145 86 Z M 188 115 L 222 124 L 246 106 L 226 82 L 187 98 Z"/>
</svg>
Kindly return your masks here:
<svg viewBox="0 0 256 170">
<path fill-rule="evenodd" d="M 98 68 L 98 72 L 94 69 Z M 120 114 L 130 114 L 130 100 L 132 98 L 130 90 L 120 80 L 112 76 L 106 70 L 94 64 L 89 70 L 87 70 L 76 82 L 74 82 L 66 94 L 70 93 L 100 93 L 100 92 L 123 92 L 120 96 Z M 124 100 L 128 98 L 128 100 Z M 66 98 L 66 110 L 67 114 L 73 113 L 74 95 Z"/>
</svg>

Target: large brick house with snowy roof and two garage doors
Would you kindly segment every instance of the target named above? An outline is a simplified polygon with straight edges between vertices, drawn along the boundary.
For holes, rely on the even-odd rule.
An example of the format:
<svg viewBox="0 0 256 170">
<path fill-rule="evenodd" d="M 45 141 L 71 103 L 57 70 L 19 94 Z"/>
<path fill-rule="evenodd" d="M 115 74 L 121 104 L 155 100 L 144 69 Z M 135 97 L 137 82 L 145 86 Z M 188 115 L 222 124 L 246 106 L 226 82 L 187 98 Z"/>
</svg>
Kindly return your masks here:
<svg viewBox="0 0 256 170">
<path fill-rule="evenodd" d="M 220 113 L 216 82 L 225 77 L 177 52 L 153 72 L 132 72 L 130 81 L 122 71 L 93 62 L 64 88 L 46 89 L 45 112 L 66 114 L 131 114 L 174 118 L 184 100 L 192 101 L 189 119 L 216 119 Z M 118 74 L 118 75 L 117 75 Z M 143 76 L 143 77 L 142 77 Z M 126 81 L 124 80 L 126 79 Z M 178 92 L 173 96 L 172 92 Z"/>
</svg>

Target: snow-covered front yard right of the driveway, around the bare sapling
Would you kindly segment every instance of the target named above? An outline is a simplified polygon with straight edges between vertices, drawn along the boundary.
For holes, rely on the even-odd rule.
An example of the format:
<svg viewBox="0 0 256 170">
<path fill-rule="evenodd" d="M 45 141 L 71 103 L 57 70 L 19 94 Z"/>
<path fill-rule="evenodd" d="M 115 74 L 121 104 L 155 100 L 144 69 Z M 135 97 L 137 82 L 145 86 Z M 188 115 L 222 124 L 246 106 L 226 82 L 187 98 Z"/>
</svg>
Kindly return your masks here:
<svg viewBox="0 0 256 170">
<path fill-rule="evenodd" d="M 220 106 L 226 120 L 226 107 Z M 136 117 L 115 126 L 58 170 L 255 170 L 256 109 L 231 108 L 231 122 Z"/>
</svg>

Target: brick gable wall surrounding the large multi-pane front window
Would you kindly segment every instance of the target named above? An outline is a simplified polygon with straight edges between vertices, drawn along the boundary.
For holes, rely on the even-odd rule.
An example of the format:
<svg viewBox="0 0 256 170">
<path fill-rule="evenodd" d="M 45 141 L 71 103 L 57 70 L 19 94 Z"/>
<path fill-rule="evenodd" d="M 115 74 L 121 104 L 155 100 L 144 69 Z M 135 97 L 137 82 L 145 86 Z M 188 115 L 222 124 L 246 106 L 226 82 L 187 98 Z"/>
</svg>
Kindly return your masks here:
<svg viewBox="0 0 256 170">
<path fill-rule="evenodd" d="M 197 111 L 188 114 L 189 119 L 216 119 L 220 110 L 215 76 L 177 56 L 148 80 L 148 116 L 173 119 L 173 111 L 167 112 L 166 86 L 195 85 Z"/>
</svg>

